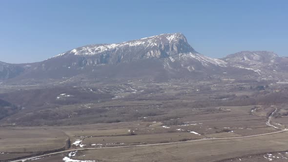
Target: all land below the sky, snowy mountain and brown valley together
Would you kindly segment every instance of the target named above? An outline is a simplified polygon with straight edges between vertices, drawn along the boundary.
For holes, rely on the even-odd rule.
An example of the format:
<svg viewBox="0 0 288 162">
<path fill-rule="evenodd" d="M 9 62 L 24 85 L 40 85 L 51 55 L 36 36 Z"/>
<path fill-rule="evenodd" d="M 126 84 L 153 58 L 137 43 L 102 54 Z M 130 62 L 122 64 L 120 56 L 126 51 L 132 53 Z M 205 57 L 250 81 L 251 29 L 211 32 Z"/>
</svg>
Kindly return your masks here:
<svg viewBox="0 0 288 162">
<path fill-rule="evenodd" d="M 0 161 L 286 160 L 286 60 L 213 59 L 175 33 L 0 62 Z"/>
</svg>

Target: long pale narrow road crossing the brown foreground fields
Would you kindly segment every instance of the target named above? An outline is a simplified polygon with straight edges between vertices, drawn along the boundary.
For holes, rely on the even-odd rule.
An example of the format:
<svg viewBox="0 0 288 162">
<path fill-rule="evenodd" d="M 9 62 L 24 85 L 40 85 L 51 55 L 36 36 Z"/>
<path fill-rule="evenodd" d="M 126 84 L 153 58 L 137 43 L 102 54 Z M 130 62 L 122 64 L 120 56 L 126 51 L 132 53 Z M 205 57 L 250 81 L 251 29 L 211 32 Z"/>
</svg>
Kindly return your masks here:
<svg viewBox="0 0 288 162">
<path fill-rule="evenodd" d="M 258 135 L 249 135 L 249 136 L 242 136 L 242 137 L 209 138 L 209 139 L 200 139 L 200 140 L 192 140 L 192 141 L 182 141 L 182 142 L 167 142 L 167 143 L 141 144 L 141 145 L 129 145 L 129 146 L 115 146 L 115 147 L 102 147 L 102 148 L 79 148 L 79 149 L 71 149 L 71 150 L 65 150 L 65 151 L 59 151 L 59 152 L 44 154 L 44 155 L 30 157 L 30 158 L 24 158 L 24 159 L 10 161 L 10 162 L 23 162 L 23 161 L 36 159 L 36 158 L 43 158 L 45 156 L 56 155 L 56 154 L 66 153 L 66 152 L 71 152 L 71 151 L 85 151 L 85 150 L 96 150 L 96 149 L 126 148 L 126 147 L 144 147 L 144 146 L 155 146 L 155 145 L 165 145 L 165 144 L 174 144 L 174 143 L 208 141 L 208 140 L 242 139 L 242 138 L 249 138 L 249 137 L 265 136 L 265 135 L 270 135 L 270 134 L 275 134 L 275 133 L 282 133 L 282 132 L 286 132 L 286 131 L 288 131 L 288 129 L 284 129 L 284 130 L 277 131 L 277 132 L 264 133 L 264 134 L 258 134 Z"/>
</svg>

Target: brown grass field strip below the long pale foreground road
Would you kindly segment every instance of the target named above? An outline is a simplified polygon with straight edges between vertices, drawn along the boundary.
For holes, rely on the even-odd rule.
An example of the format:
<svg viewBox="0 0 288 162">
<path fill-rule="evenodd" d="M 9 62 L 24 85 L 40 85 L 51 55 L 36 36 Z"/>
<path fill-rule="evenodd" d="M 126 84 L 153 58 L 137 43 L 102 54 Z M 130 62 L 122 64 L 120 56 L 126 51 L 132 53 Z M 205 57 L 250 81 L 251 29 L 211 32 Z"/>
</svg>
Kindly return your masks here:
<svg viewBox="0 0 288 162">
<path fill-rule="evenodd" d="M 97 162 L 212 162 L 288 150 L 288 132 L 242 139 L 209 140 L 156 146 L 80 151 L 72 159 Z M 219 149 L 221 148 L 221 149 Z M 136 150 L 137 149 L 137 150 Z M 85 155 L 85 156 L 84 156 Z M 67 154 L 35 162 L 61 162 Z M 277 159 L 277 158 L 276 158 Z M 230 160 L 229 160 L 230 161 Z M 268 161 L 262 157 L 261 162 Z M 251 161 L 252 162 L 252 161 Z M 278 162 L 278 161 L 277 161 Z M 279 161 L 281 162 L 281 161 Z"/>
</svg>

